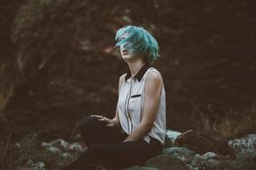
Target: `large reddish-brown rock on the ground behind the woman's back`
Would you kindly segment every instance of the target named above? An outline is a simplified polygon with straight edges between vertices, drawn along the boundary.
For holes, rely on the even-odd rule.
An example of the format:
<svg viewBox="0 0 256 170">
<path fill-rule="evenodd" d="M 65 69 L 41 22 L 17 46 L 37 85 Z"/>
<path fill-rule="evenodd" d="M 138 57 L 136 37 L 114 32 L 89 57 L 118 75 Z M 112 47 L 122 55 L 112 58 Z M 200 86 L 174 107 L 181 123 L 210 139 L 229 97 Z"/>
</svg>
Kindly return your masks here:
<svg viewBox="0 0 256 170">
<path fill-rule="evenodd" d="M 215 152 L 221 155 L 234 157 L 234 150 L 228 145 L 227 140 L 218 132 L 183 132 L 175 140 L 175 145 L 185 146 L 199 154 Z"/>
</svg>

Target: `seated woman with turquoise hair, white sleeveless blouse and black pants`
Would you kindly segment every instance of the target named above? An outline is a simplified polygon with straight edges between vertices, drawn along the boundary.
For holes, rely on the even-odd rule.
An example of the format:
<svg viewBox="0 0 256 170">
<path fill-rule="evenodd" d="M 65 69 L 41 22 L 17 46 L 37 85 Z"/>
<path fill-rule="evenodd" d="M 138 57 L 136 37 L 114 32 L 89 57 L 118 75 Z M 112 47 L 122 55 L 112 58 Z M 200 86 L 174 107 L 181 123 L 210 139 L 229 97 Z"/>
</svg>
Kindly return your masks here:
<svg viewBox="0 0 256 170">
<path fill-rule="evenodd" d="M 165 92 L 161 74 L 150 64 L 158 55 L 156 40 L 141 27 L 126 26 L 116 33 L 129 72 L 119 78 L 116 115 L 88 115 L 80 132 L 88 149 L 65 169 L 93 165 L 142 165 L 162 153 L 166 129 Z M 82 168 L 83 166 L 83 168 Z"/>
</svg>

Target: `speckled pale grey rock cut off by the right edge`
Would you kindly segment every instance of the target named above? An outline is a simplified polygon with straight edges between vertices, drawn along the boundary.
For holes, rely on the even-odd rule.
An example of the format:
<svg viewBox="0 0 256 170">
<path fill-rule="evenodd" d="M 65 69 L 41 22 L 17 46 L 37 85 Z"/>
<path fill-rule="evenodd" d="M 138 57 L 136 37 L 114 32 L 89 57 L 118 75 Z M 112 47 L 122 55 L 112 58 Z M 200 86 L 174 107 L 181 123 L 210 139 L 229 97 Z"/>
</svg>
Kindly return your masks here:
<svg viewBox="0 0 256 170">
<path fill-rule="evenodd" d="M 248 134 L 237 140 L 230 140 L 229 146 L 237 157 L 256 157 L 256 134 Z"/>
</svg>

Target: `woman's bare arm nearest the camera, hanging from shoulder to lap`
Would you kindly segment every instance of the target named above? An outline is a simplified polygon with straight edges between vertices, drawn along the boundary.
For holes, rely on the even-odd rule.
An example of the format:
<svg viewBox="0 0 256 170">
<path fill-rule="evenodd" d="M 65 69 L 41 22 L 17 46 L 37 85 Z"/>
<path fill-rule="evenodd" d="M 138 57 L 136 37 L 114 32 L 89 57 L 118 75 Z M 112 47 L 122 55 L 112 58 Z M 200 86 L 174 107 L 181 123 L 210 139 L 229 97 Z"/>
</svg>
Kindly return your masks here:
<svg viewBox="0 0 256 170">
<path fill-rule="evenodd" d="M 142 111 L 142 120 L 137 128 L 128 135 L 124 141 L 134 141 L 144 138 L 150 132 L 154 125 L 161 89 L 163 87 L 163 80 L 158 72 L 149 72 L 146 77 L 146 91 L 144 99 L 144 107 Z"/>
</svg>

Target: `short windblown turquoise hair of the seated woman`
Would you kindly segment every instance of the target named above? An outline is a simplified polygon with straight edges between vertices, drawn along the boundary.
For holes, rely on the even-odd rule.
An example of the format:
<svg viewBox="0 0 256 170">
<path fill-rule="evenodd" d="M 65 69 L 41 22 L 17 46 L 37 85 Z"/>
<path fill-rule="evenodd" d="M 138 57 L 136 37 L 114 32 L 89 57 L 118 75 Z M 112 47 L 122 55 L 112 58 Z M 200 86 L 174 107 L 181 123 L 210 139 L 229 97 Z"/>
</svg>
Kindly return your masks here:
<svg viewBox="0 0 256 170">
<path fill-rule="evenodd" d="M 123 36 L 127 34 L 127 37 Z M 145 55 L 146 61 L 153 63 L 158 55 L 158 44 L 155 38 L 144 28 L 133 25 L 125 26 L 117 30 L 116 47 L 121 45 L 133 55 Z"/>
</svg>

